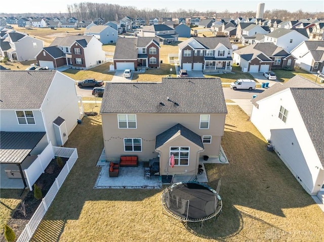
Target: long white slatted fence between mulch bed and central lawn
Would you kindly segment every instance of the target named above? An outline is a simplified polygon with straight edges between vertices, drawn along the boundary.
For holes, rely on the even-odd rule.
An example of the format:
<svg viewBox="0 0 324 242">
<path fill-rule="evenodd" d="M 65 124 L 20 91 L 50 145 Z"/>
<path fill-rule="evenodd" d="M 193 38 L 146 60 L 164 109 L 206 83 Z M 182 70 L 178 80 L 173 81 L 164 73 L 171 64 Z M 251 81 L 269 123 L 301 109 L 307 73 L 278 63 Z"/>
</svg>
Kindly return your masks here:
<svg viewBox="0 0 324 242">
<path fill-rule="evenodd" d="M 49 209 L 51 203 L 53 202 L 57 192 L 61 188 L 65 178 L 69 174 L 71 168 L 73 167 L 76 159 L 77 159 L 77 151 L 75 148 L 62 148 L 62 147 L 53 147 L 54 156 L 66 157 L 69 158 L 66 162 L 65 166 L 61 170 L 58 177 L 55 179 L 55 182 L 47 192 L 46 196 L 43 198 L 41 204 L 39 204 L 37 210 L 34 215 L 31 217 L 29 222 L 27 223 L 25 229 L 20 234 L 17 242 L 27 242 L 32 237 L 33 233 L 36 231 L 37 226 L 41 223 L 44 215 Z"/>
</svg>

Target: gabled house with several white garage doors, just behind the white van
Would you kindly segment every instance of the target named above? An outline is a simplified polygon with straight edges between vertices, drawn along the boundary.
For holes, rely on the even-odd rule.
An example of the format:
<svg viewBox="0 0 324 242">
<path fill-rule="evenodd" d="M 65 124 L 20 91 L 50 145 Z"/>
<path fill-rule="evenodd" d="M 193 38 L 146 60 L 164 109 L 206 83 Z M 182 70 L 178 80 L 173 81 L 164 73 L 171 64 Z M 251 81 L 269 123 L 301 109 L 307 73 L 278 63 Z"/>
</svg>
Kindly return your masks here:
<svg viewBox="0 0 324 242">
<path fill-rule="evenodd" d="M 293 68 L 296 58 L 274 43 L 256 43 L 234 51 L 234 63 L 243 72 L 267 72 L 271 69 Z"/>
</svg>

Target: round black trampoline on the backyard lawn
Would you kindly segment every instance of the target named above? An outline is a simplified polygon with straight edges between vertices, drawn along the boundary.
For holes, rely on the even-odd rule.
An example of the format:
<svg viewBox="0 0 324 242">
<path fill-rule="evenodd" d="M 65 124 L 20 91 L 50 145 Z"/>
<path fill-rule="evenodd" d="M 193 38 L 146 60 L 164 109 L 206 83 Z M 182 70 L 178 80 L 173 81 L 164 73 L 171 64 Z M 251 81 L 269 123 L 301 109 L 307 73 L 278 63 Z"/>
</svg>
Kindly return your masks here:
<svg viewBox="0 0 324 242">
<path fill-rule="evenodd" d="M 223 203 L 211 187 L 198 182 L 177 182 L 167 187 L 161 197 L 163 208 L 175 219 L 184 222 L 203 222 L 222 211 Z"/>
</svg>

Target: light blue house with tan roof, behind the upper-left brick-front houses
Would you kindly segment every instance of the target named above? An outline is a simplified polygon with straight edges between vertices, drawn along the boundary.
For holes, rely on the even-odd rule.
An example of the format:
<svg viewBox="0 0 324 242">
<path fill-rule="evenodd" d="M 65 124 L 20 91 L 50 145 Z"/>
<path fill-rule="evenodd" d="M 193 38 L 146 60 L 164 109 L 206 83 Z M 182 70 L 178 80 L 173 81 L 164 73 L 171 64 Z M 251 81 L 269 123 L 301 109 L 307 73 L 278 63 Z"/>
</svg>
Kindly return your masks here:
<svg viewBox="0 0 324 242">
<path fill-rule="evenodd" d="M 118 38 L 118 32 L 109 25 L 92 26 L 85 30 L 86 36 L 95 36 L 101 43 L 115 43 Z"/>
</svg>

